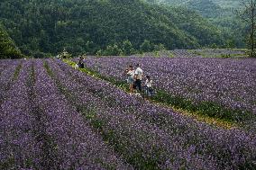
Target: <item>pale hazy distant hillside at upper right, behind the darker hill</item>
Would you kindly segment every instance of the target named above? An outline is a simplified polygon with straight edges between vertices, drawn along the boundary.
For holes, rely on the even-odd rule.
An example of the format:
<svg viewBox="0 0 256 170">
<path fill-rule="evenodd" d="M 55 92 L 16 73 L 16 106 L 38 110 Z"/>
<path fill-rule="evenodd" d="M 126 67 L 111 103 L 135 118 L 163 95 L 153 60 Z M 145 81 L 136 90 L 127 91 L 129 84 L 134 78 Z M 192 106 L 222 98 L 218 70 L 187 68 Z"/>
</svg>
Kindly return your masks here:
<svg viewBox="0 0 256 170">
<path fill-rule="evenodd" d="M 153 4 L 186 6 L 200 13 L 207 21 L 222 31 L 229 47 L 245 47 L 246 25 L 236 11 L 242 7 L 241 0 L 148 0 Z"/>
</svg>

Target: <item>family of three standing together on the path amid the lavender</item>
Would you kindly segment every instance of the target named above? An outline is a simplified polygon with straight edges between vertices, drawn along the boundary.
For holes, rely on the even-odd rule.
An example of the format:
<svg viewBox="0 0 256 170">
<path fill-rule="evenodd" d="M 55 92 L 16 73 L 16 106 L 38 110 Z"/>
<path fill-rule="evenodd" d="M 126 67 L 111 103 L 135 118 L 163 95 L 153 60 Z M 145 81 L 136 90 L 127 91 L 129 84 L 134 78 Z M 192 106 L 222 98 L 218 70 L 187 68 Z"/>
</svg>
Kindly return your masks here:
<svg viewBox="0 0 256 170">
<path fill-rule="evenodd" d="M 147 96 L 153 95 L 153 81 L 151 80 L 151 76 L 146 76 L 145 84 L 142 85 L 143 71 L 140 64 L 136 65 L 135 70 L 133 69 L 133 66 L 129 66 L 125 72 L 128 76 L 127 83 L 129 84 L 130 94 L 133 94 L 134 90 L 137 90 L 137 94 L 138 92 L 139 94 L 142 94 L 142 88 L 144 88 Z"/>
</svg>

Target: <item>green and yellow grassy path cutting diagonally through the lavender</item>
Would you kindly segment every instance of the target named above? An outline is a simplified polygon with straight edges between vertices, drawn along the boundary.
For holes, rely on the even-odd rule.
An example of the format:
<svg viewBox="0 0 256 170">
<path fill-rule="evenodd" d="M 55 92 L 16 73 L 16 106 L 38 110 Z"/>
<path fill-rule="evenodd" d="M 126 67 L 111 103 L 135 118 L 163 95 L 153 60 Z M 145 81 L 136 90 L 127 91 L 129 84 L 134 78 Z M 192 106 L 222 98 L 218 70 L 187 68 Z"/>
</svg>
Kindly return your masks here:
<svg viewBox="0 0 256 170">
<path fill-rule="evenodd" d="M 70 67 L 75 67 L 76 65 L 75 62 L 69 59 L 63 59 L 63 61 Z M 126 82 L 119 81 L 112 77 L 102 76 L 100 73 L 88 67 L 78 68 L 78 70 L 86 73 L 88 76 L 105 80 L 126 93 L 129 93 L 129 88 Z M 212 102 L 195 104 L 192 101 L 180 96 L 173 96 L 163 90 L 158 90 L 154 97 L 146 100 L 149 100 L 153 104 L 168 107 L 174 112 L 189 116 L 197 121 L 203 121 L 213 126 L 222 127 L 226 130 L 238 128 L 243 121 L 247 121 L 253 117 L 251 112 L 231 110 L 218 103 Z M 255 118 L 253 117 L 253 119 Z"/>
</svg>

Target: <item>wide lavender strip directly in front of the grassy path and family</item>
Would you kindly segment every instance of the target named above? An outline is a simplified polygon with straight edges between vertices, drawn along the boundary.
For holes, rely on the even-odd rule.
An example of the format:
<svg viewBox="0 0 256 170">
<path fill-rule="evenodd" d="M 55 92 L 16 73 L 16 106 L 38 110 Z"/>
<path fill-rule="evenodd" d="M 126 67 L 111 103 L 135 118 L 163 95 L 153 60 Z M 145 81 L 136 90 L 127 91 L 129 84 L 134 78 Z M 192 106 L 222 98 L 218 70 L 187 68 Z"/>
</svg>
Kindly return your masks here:
<svg viewBox="0 0 256 170">
<path fill-rule="evenodd" d="M 160 168 L 174 169 L 238 168 L 255 160 L 253 136 L 240 130 L 215 129 L 167 108 L 142 103 L 61 61 L 49 62 L 56 81 L 72 96 L 72 103 L 89 120 L 104 124 L 100 130 L 111 132 L 115 143 L 123 148 L 119 154 L 128 160 L 139 152 L 147 160 L 157 159 Z"/>
</svg>

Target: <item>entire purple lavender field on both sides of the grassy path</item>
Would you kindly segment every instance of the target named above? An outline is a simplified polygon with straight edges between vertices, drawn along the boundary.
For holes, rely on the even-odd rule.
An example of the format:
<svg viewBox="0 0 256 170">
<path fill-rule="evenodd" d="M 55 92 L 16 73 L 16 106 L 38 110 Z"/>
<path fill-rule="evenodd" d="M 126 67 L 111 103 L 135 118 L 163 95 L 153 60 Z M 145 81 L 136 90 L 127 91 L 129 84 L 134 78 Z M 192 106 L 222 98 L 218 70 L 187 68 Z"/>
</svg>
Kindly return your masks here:
<svg viewBox="0 0 256 170">
<path fill-rule="evenodd" d="M 111 80 L 125 84 L 123 69 L 136 63 L 157 93 L 215 103 L 222 109 L 215 115 L 231 114 L 236 126 L 127 94 Z M 0 169 L 256 168 L 255 59 L 87 57 L 85 64 L 0 60 Z"/>
</svg>

